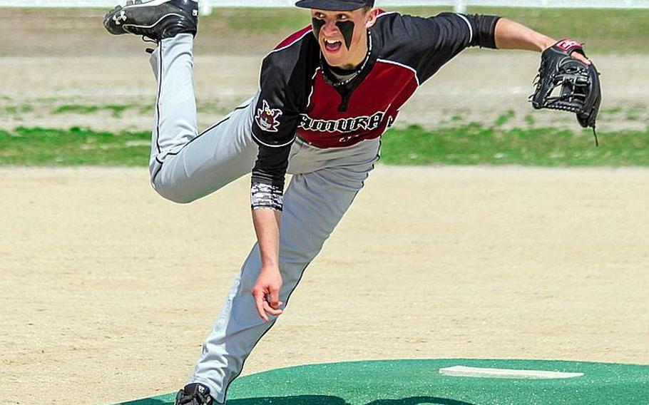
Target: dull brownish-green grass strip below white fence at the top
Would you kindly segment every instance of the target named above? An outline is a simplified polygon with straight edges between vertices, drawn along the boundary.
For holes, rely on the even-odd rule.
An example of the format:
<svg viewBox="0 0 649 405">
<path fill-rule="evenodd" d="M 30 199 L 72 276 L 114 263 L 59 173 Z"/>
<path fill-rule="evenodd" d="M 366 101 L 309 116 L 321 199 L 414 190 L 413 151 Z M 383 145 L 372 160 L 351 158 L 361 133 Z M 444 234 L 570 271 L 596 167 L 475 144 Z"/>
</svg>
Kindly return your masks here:
<svg viewBox="0 0 649 405">
<path fill-rule="evenodd" d="M 0 41 L 0 57 L 143 56 L 143 46 L 136 41 L 116 40 L 106 34 L 101 21 L 109 8 L 1 9 L 0 36 L 5 41 Z M 452 11 L 451 6 L 384 8 L 418 16 Z M 583 41 L 589 55 L 649 52 L 649 9 L 469 6 L 466 12 L 505 16 L 556 39 L 571 37 Z M 74 21 L 74 26 L 60 21 Z M 309 10 L 290 6 L 290 2 L 285 8 L 216 7 L 212 15 L 200 17 L 195 51 L 197 55 L 262 55 L 310 21 Z"/>
</svg>

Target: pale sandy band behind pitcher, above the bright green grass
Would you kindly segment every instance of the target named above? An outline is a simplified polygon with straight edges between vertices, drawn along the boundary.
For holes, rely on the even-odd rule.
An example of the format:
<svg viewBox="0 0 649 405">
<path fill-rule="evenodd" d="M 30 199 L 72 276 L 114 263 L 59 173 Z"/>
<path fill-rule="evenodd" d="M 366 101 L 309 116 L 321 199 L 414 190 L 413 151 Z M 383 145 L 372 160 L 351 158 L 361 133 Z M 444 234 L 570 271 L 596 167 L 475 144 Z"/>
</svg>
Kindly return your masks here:
<svg viewBox="0 0 649 405">
<path fill-rule="evenodd" d="M 255 93 L 262 54 L 199 54 L 195 59 L 199 125 L 207 128 Z M 645 130 L 649 125 L 649 76 L 644 72 L 649 56 L 601 55 L 593 56 L 593 60 L 603 72 L 598 130 Z M 499 116 L 511 111 L 513 117 L 504 128 L 560 125 L 578 130 L 573 114 L 535 111 L 528 103 L 536 68 L 538 55 L 531 52 L 483 50 L 461 54 L 421 86 L 402 109 L 397 125 L 493 125 Z M 69 128 L 73 123 L 96 130 L 148 130 L 152 123 L 156 86 L 145 53 L 6 57 L 0 58 L 0 70 L 9 72 L 0 76 L 0 96 L 5 96 L 0 98 L 0 128 Z M 52 113 L 60 106 L 114 104 L 133 108 L 120 116 L 112 116 L 110 111 Z M 16 108 L 16 113 L 3 113 L 9 106 Z M 29 106 L 29 111 L 24 111 L 24 106 Z"/>
</svg>

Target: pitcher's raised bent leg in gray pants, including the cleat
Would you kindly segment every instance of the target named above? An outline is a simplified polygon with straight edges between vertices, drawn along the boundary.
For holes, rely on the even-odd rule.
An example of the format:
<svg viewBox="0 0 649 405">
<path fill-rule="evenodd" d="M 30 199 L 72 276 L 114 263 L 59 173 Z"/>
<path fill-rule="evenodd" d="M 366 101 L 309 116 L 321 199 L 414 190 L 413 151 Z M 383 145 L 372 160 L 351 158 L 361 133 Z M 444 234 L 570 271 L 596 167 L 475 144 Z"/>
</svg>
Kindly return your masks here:
<svg viewBox="0 0 649 405">
<path fill-rule="evenodd" d="M 190 202 L 250 173 L 257 156 L 252 140 L 255 97 L 198 133 L 193 86 L 195 0 L 129 1 L 106 14 L 112 34 L 137 34 L 158 43 L 151 66 L 158 82 L 151 140 L 153 188 L 168 200 Z"/>
</svg>

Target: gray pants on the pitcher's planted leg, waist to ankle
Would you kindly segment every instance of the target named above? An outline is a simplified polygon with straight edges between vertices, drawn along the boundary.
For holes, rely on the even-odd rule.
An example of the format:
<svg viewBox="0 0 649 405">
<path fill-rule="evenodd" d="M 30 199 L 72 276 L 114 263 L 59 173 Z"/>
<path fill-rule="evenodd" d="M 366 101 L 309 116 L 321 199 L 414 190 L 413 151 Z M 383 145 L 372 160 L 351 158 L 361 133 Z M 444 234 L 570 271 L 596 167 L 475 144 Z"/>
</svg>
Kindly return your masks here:
<svg viewBox="0 0 649 405">
<path fill-rule="evenodd" d="M 332 149 L 314 148 L 300 140 L 296 143 L 289 171 L 297 174 L 285 193 L 280 229 L 280 299 L 286 303 L 362 188 L 379 149 L 378 139 Z M 260 266 L 255 245 L 232 284 L 190 379 L 208 386 L 220 402 L 225 401 L 228 385 L 239 375 L 252 348 L 275 323 L 275 317 L 270 322 L 260 319 L 250 294 Z"/>
</svg>

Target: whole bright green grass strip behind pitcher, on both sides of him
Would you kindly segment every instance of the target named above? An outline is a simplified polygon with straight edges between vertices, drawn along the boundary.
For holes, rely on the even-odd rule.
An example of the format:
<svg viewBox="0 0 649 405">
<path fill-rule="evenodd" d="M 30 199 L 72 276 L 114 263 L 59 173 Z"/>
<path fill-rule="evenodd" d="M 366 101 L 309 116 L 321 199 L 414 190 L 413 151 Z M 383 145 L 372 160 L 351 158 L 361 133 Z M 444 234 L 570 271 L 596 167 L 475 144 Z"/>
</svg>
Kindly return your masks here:
<svg viewBox="0 0 649 405">
<path fill-rule="evenodd" d="M 513 128 L 471 123 L 427 130 L 393 128 L 382 140 L 387 165 L 649 166 L 649 128 L 590 130 Z M 2 165 L 148 164 L 150 133 L 19 127 L 0 130 Z"/>
</svg>

